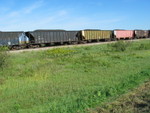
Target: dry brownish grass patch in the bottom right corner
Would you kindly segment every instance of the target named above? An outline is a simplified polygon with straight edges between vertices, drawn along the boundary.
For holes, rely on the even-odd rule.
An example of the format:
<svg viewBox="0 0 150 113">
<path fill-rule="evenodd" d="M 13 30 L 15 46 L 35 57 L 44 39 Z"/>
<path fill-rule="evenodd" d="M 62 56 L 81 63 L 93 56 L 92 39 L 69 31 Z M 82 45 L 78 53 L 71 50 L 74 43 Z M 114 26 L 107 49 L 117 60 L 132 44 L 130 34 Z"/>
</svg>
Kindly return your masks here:
<svg viewBox="0 0 150 113">
<path fill-rule="evenodd" d="M 113 102 L 88 110 L 88 113 L 150 113 L 150 81 Z"/>
</svg>

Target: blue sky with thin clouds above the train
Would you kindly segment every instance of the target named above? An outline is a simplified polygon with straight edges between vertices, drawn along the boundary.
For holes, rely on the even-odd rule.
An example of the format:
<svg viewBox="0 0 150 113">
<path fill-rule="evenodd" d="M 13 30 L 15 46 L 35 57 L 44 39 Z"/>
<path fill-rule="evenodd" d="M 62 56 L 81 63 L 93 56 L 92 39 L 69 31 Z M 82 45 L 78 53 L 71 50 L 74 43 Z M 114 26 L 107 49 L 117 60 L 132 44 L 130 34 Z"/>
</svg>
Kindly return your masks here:
<svg viewBox="0 0 150 113">
<path fill-rule="evenodd" d="M 0 0 L 0 31 L 150 29 L 150 0 Z"/>
</svg>

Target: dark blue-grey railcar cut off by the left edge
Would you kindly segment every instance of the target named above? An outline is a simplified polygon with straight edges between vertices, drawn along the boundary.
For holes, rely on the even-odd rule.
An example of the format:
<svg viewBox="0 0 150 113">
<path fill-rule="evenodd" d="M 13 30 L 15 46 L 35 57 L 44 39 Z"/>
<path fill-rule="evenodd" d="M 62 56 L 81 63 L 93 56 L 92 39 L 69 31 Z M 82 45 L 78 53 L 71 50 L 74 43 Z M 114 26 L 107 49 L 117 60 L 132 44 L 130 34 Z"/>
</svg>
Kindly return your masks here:
<svg viewBox="0 0 150 113">
<path fill-rule="evenodd" d="M 19 45 L 23 32 L 0 32 L 0 46 Z"/>
</svg>

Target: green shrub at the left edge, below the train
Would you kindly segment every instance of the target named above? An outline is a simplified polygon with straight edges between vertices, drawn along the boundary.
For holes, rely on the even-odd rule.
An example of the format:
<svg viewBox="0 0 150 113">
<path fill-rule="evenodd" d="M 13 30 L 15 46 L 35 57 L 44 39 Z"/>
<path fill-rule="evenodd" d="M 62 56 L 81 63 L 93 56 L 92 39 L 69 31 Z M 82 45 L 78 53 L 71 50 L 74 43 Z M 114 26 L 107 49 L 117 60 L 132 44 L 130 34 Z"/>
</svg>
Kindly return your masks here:
<svg viewBox="0 0 150 113">
<path fill-rule="evenodd" d="M 6 61 L 8 58 L 7 51 L 7 47 L 0 47 L 0 68 L 3 68 L 6 65 Z"/>
</svg>

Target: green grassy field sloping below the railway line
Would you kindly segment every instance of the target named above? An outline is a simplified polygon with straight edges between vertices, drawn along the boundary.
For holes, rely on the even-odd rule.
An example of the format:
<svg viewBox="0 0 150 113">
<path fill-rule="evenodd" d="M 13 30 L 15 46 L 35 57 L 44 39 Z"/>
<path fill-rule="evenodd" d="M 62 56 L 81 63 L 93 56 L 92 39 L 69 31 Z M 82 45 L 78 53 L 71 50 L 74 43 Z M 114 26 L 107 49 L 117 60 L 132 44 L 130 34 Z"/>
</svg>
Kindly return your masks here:
<svg viewBox="0 0 150 113">
<path fill-rule="evenodd" d="M 9 54 L 0 113 L 76 113 L 150 79 L 150 41 Z"/>
</svg>

